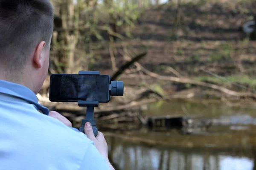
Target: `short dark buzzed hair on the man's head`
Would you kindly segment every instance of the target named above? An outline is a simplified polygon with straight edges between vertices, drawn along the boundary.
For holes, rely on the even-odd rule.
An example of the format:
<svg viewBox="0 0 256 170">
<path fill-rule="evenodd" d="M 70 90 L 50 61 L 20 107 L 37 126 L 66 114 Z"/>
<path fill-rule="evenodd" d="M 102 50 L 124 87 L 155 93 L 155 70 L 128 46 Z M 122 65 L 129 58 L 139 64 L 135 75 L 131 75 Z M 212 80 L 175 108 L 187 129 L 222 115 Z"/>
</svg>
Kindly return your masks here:
<svg viewBox="0 0 256 170">
<path fill-rule="evenodd" d="M 49 0 L 0 0 L 0 65 L 7 71 L 22 69 L 41 41 L 53 31 Z"/>
</svg>

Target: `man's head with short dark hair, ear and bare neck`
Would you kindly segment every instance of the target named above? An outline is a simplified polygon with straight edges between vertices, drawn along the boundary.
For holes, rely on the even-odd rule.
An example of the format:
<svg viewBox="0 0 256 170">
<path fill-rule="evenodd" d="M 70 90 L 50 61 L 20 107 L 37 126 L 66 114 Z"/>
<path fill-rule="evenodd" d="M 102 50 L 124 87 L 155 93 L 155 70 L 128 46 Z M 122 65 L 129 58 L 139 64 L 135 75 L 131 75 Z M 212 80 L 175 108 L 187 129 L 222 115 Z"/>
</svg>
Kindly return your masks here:
<svg viewBox="0 0 256 170">
<path fill-rule="evenodd" d="M 38 93 L 49 68 L 52 30 L 48 0 L 0 0 L 0 79 Z"/>
</svg>

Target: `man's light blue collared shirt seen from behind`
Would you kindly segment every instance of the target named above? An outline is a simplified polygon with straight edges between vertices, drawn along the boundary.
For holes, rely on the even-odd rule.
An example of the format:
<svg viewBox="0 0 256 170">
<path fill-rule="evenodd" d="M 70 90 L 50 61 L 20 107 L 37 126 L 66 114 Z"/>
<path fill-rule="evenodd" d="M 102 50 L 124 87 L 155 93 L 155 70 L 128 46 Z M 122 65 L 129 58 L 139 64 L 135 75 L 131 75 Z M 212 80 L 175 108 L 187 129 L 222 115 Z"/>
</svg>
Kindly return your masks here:
<svg viewBox="0 0 256 170">
<path fill-rule="evenodd" d="M 48 115 L 29 88 L 0 80 L 0 170 L 109 170 L 84 133 Z"/>
</svg>

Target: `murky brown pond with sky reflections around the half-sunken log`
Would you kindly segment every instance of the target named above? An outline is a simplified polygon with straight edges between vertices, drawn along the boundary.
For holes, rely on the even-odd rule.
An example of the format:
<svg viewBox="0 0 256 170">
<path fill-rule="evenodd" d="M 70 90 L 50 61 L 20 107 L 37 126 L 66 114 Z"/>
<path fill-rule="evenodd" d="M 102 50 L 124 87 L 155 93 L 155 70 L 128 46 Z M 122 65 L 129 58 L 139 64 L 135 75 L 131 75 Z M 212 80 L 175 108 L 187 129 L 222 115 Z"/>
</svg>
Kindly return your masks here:
<svg viewBox="0 0 256 170">
<path fill-rule="evenodd" d="M 225 119 L 229 125 L 213 125 L 196 135 L 145 127 L 105 132 L 116 170 L 256 170 L 256 110 L 215 101 L 173 100 L 154 103 L 144 114 L 184 114 L 184 108 L 189 115 Z"/>
</svg>

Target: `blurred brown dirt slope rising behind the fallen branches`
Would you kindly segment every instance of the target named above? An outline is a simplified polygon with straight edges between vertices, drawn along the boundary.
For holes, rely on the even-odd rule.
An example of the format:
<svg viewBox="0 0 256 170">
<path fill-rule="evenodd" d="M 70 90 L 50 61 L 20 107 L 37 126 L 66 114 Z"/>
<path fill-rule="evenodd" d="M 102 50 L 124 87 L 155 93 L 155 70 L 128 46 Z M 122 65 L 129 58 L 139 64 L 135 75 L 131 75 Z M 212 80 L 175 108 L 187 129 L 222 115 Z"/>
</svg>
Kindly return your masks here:
<svg viewBox="0 0 256 170">
<path fill-rule="evenodd" d="M 180 22 L 175 22 L 176 5 L 164 5 L 146 10 L 133 38 L 116 42 L 117 51 L 125 45 L 130 51 L 147 50 L 140 63 L 151 71 L 172 75 L 168 66 L 184 76 L 207 75 L 205 68 L 219 75 L 253 76 L 256 43 L 248 41 L 239 28 L 252 20 L 256 8 L 249 1 L 233 3 L 184 3 L 180 8 Z M 177 29 L 175 31 L 175 26 Z M 108 50 L 99 51 L 102 59 L 96 69 L 110 73 Z M 116 63 L 124 62 L 120 52 Z"/>
</svg>

